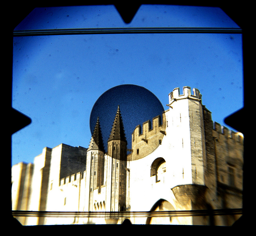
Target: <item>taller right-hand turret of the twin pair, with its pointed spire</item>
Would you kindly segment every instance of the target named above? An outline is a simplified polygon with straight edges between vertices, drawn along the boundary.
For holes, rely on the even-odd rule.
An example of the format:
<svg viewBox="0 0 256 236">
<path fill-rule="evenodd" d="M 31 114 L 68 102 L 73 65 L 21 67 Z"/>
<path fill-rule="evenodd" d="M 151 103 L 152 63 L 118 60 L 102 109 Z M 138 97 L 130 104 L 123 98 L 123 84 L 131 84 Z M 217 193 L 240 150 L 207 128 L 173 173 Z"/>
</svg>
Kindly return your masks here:
<svg viewBox="0 0 256 236">
<path fill-rule="evenodd" d="M 122 211 L 126 202 L 127 141 L 119 106 L 108 139 L 108 155 L 112 157 L 111 211 Z"/>
</svg>

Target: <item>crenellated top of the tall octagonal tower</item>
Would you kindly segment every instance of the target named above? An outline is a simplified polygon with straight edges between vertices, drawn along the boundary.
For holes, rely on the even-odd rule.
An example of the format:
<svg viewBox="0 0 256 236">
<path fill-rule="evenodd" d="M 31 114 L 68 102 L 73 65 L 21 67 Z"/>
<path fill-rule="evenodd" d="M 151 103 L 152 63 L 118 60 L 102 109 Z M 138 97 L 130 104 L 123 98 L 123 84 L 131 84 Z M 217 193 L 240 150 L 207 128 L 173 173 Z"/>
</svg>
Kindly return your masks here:
<svg viewBox="0 0 256 236">
<path fill-rule="evenodd" d="M 169 93 L 169 104 L 172 104 L 174 101 L 180 99 L 193 99 L 197 101 L 201 101 L 202 95 L 200 94 L 199 90 L 194 88 L 193 89 L 194 95 L 191 94 L 191 88 L 188 86 L 183 87 L 183 94 L 180 94 L 179 88 L 175 88 L 172 92 Z"/>
</svg>

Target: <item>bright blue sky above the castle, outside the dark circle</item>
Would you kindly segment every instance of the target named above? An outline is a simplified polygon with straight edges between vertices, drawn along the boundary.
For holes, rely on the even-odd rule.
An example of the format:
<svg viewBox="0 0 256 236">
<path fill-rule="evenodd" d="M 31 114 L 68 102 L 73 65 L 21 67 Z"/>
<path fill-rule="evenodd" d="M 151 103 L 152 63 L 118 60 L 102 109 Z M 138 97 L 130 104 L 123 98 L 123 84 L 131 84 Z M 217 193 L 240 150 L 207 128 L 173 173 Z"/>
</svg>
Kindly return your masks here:
<svg viewBox="0 0 256 236">
<path fill-rule="evenodd" d="M 16 30 L 90 27 L 238 26 L 219 8 L 142 5 L 125 24 L 114 6 L 79 6 L 37 8 Z M 174 88 L 198 88 L 221 125 L 243 107 L 240 34 L 30 36 L 13 45 L 12 106 L 32 119 L 12 136 L 13 165 L 46 146 L 88 147 L 92 107 L 117 85 L 142 86 L 165 109 Z"/>
</svg>

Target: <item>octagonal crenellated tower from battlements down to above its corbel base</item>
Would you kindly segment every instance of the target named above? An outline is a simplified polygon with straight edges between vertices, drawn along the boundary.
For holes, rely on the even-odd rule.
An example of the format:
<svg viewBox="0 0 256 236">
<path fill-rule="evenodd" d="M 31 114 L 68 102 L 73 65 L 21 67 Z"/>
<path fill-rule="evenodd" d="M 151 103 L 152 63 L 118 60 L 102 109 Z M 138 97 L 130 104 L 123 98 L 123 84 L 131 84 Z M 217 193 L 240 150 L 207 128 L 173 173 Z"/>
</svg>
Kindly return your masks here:
<svg viewBox="0 0 256 236">
<path fill-rule="evenodd" d="M 175 132 L 177 140 L 175 148 L 178 148 L 180 155 L 184 156 L 184 166 L 181 169 L 184 184 L 205 185 L 204 113 L 207 109 L 202 105 L 199 90 L 194 88 L 193 92 L 194 94 L 191 94 L 190 87 L 183 87 L 183 94 L 180 93 L 179 88 L 170 92 L 167 126 L 171 128 L 172 133 Z"/>
</svg>

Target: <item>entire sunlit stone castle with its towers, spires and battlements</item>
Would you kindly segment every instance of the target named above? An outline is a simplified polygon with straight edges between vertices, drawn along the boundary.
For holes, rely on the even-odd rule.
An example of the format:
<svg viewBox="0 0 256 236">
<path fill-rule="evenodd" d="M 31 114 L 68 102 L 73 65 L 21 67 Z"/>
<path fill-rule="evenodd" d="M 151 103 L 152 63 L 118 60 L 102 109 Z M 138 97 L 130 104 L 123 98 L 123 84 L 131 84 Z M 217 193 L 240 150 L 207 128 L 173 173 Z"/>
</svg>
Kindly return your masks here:
<svg viewBox="0 0 256 236">
<path fill-rule="evenodd" d="M 152 128 L 144 122 L 143 132 L 135 128 L 129 155 L 118 107 L 107 153 L 97 120 L 89 148 L 45 147 L 34 164 L 14 165 L 13 210 L 89 213 L 17 219 L 24 225 L 120 224 L 124 219 L 133 224 L 232 225 L 241 215 L 129 214 L 242 208 L 243 135 L 213 123 L 199 90 L 193 91 L 184 87 L 181 94 L 175 88 L 163 119 L 153 118 Z M 95 212 L 106 214 L 94 217 Z"/>
</svg>

